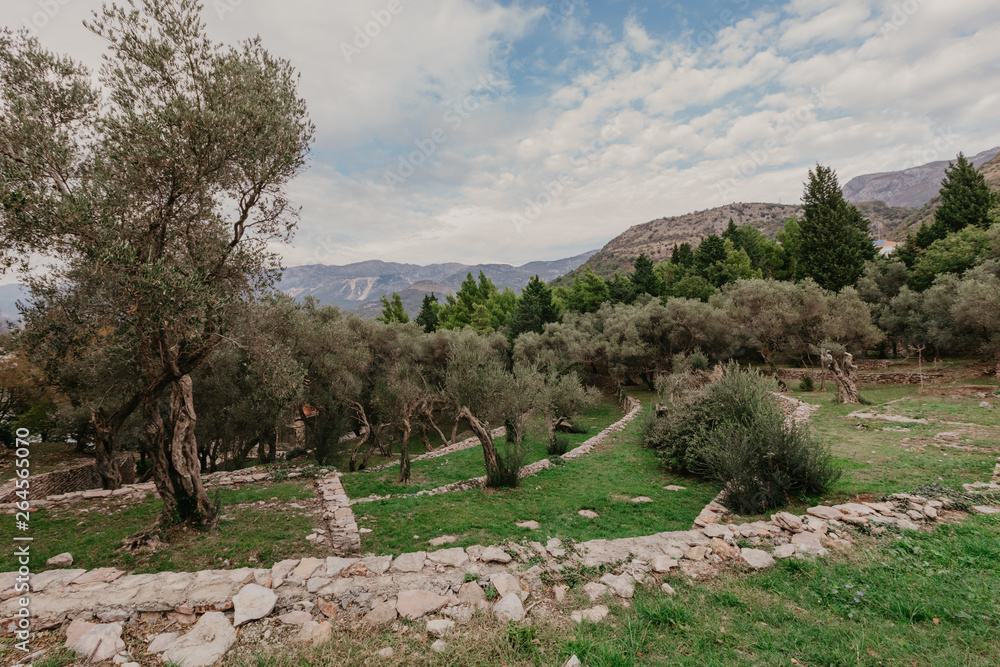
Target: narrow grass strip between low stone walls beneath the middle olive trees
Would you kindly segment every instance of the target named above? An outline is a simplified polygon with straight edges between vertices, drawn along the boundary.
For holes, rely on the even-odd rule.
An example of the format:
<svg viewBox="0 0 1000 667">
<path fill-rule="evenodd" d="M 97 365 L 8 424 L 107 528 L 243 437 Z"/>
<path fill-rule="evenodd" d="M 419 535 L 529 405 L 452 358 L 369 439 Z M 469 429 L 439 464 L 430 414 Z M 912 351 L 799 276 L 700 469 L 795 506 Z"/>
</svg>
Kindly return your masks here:
<svg viewBox="0 0 1000 667">
<path fill-rule="evenodd" d="M 602 401 L 594 409 L 588 411 L 577 421 L 590 427 L 586 434 L 568 434 L 565 437 L 570 442 L 570 449 L 591 438 L 601 429 L 621 419 L 622 413 L 613 400 Z M 538 429 L 535 429 L 538 430 Z M 497 448 L 503 452 L 504 438 L 497 438 Z M 525 465 L 548 458 L 545 451 L 545 438 L 531 431 L 525 438 Z M 454 454 L 434 459 L 417 461 L 410 468 L 410 483 L 400 484 L 399 467 L 393 466 L 375 472 L 359 472 L 344 475 L 341 483 L 344 491 L 351 498 L 366 498 L 370 495 L 388 496 L 396 494 L 416 493 L 425 489 L 433 489 L 452 482 L 480 477 L 486 474 L 481 447 L 465 449 Z"/>
</svg>

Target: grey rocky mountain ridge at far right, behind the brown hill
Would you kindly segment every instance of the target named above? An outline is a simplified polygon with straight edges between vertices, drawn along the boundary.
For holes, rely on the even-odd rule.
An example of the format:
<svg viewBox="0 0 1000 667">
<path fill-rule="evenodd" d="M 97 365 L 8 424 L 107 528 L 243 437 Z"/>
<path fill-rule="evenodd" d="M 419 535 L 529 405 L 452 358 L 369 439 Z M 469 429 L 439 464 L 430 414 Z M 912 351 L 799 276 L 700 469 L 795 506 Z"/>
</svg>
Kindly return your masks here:
<svg viewBox="0 0 1000 667">
<path fill-rule="evenodd" d="M 1000 154 L 1000 147 L 991 148 L 969 158 L 979 167 Z M 889 206 L 920 208 L 937 196 L 948 160 L 930 162 L 903 171 L 865 174 L 852 178 L 844 186 L 847 201 L 858 203 L 883 201 Z"/>
</svg>

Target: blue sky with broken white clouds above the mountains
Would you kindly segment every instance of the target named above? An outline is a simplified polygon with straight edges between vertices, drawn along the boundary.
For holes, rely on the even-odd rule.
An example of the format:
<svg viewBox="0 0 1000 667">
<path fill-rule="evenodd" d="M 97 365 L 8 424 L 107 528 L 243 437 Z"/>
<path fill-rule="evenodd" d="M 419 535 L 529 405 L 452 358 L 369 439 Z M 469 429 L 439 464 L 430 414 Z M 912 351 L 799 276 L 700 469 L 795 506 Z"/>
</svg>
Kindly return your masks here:
<svg viewBox="0 0 1000 667">
<path fill-rule="evenodd" d="M 0 24 L 96 66 L 100 0 Z M 395 13 L 393 13 L 394 10 Z M 1000 145 L 996 0 L 205 0 L 317 126 L 289 266 L 507 262 L 733 201 Z"/>
</svg>

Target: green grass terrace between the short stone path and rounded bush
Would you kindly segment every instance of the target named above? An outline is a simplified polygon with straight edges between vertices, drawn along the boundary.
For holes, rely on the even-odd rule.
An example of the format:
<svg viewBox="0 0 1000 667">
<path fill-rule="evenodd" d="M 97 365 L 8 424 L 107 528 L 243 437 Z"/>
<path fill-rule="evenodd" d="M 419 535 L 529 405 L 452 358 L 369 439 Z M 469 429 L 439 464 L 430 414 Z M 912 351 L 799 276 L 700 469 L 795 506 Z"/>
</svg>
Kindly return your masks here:
<svg viewBox="0 0 1000 667">
<path fill-rule="evenodd" d="M 477 489 L 355 504 L 358 525 L 374 531 L 362 535 L 362 549 L 379 554 L 417 551 L 440 535 L 455 535 L 459 539 L 454 546 L 469 546 L 505 539 L 584 541 L 688 530 L 718 493 L 710 484 L 664 472 L 655 453 L 639 446 L 636 422 L 608 442 L 612 446 L 522 480 L 515 490 Z M 666 491 L 668 484 L 687 490 Z M 631 502 L 637 496 L 654 502 Z M 585 519 L 577 514 L 581 509 L 601 516 Z M 515 526 L 527 519 L 538 521 L 541 528 Z"/>
</svg>

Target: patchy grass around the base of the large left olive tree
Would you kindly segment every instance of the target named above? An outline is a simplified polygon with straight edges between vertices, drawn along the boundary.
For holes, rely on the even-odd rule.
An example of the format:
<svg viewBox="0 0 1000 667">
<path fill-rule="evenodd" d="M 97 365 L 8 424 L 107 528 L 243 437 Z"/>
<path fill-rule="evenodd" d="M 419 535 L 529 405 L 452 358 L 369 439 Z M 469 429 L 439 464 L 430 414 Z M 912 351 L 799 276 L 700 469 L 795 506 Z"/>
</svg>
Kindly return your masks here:
<svg viewBox="0 0 1000 667">
<path fill-rule="evenodd" d="M 213 498 L 215 495 L 213 494 Z M 296 500 L 313 497 L 309 485 L 287 482 L 270 486 L 224 489 L 218 492 L 222 502 L 217 530 L 202 532 L 178 527 L 168 533 L 169 545 L 152 554 L 119 553 L 122 540 L 153 524 L 162 503 L 151 496 L 138 505 L 106 501 L 88 505 L 90 511 L 80 513 L 80 507 L 40 509 L 32 514 L 29 535 L 34 537 L 32 559 L 35 570 L 43 569 L 45 561 L 56 554 L 73 554 L 73 567 L 96 568 L 115 566 L 123 570 L 143 572 L 189 572 L 206 568 L 270 567 L 292 556 L 325 555 L 322 546 L 315 547 L 305 540 L 319 517 L 289 508 Z M 276 501 L 272 501 L 276 498 Z M 275 506 L 233 505 L 275 503 Z M 12 543 L 13 521 L 0 524 L 0 540 Z M 256 559 L 253 561 L 251 559 Z M 229 565 L 224 561 L 229 560 Z M 0 571 L 14 568 L 11 556 L 0 556 Z"/>
</svg>

